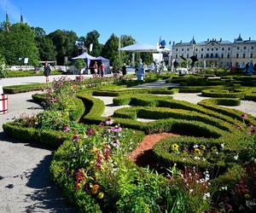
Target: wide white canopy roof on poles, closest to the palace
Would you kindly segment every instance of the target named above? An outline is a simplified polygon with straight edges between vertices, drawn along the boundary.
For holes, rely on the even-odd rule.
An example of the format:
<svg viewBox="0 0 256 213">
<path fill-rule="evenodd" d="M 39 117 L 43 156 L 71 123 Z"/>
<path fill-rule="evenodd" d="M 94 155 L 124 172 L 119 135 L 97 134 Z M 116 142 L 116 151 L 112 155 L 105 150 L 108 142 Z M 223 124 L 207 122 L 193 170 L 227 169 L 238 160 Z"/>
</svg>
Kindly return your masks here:
<svg viewBox="0 0 256 213">
<path fill-rule="evenodd" d="M 121 51 L 131 51 L 131 52 L 144 52 L 144 53 L 157 53 L 164 51 L 171 51 L 171 49 L 160 49 L 157 46 L 153 46 L 146 43 L 135 43 L 124 48 L 120 48 Z"/>
</svg>

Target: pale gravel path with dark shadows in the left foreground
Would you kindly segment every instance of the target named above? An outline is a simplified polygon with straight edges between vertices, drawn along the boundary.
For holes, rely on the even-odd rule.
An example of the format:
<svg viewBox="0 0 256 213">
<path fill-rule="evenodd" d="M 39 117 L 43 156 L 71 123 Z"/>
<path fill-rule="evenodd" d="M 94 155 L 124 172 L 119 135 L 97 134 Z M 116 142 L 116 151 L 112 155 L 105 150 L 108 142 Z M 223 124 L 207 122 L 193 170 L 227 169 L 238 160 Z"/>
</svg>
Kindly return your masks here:
<svg viewBox="0 0 256 213">
<path fill-rule="evenodd" d="M 0 115 L 0 212 L 73 212 L 49 181 L 52 151 L 3 135 L 2 124 L 42 111 L 33 93 L 9 95 L 9 112 Z"/>
</svg>

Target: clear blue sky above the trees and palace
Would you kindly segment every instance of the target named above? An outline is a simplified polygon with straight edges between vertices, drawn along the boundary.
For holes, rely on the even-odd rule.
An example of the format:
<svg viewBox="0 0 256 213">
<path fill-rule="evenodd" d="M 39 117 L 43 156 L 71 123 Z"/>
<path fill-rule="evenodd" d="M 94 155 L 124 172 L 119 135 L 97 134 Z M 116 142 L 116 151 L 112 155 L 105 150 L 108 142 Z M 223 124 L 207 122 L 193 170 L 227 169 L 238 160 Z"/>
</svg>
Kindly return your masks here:
<svg viewBox="0 0 256 213">
<path fill-rule="evenodd" d="M 54 32 L 73 30 L 79 36 L 97 30 L 105 43 L 114 33 L 138 42 L 196 42 L 209 38 L 233 41 L 238 34 L 256 39 L 256 0 L 0 0 L 0 20 L 5 4 L 11 22 L 20 19 L 20 7 L 30 26 Z"/>
</svg>

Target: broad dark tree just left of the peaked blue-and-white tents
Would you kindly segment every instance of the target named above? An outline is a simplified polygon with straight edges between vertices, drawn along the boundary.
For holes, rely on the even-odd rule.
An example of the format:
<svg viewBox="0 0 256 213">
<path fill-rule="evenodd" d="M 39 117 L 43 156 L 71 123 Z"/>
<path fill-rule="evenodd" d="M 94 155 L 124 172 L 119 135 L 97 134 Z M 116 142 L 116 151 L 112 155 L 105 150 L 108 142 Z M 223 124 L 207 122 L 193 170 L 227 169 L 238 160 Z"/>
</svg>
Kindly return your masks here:
<svg viewBox="0 0 256 213">
<path fill-rule="evenodd" d="M 65 56 L 70 59 L 77 55 L 75 42 L 78 40 L 78 36 L 75 32 L 56 30 L 55 32 L 49 33 L 49 38 L 56 47 L 58 64 L 64 64 Z"/>
</svg>

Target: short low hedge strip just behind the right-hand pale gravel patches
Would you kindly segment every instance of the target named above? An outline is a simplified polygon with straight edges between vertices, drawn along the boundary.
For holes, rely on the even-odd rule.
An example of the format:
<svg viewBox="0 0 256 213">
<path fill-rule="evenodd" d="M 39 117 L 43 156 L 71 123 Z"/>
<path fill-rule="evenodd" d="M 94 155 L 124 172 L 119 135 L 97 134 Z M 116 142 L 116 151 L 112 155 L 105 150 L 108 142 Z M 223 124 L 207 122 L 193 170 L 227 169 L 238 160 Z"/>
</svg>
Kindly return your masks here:
<svg viewBox="0 0 256 213">
<path fill-rule="evenodd" d="M 205 89 L 201 91 L 201 95 L 218 98 L 243 98 L 245 93 L 241 92 L 239 89 L 236 89 L 233 92 L 230 92 L 227 89 Z"/>
</svg>

